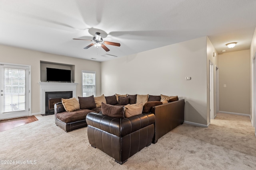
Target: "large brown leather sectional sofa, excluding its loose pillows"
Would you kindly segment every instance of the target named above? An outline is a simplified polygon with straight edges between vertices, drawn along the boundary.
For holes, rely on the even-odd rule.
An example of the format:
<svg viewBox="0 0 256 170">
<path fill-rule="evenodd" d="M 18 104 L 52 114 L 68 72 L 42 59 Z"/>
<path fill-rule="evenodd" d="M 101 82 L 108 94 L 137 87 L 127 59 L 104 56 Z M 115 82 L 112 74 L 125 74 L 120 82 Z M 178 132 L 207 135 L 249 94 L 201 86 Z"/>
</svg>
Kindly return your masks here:
<svg viewBox="0 0 256 170">
<path fill-rule="evenodd" d="M 147 113 L 116 118 L 99 113 L 101 107 L 67 112 L 54 105 L 55 123 L 66 132 L 87 127 L 90 145 L 119 164 L 184 122 L 184 100 L 151 107 Z M 120 105 L 119 105 L 120 106 Z"/>
</svg>

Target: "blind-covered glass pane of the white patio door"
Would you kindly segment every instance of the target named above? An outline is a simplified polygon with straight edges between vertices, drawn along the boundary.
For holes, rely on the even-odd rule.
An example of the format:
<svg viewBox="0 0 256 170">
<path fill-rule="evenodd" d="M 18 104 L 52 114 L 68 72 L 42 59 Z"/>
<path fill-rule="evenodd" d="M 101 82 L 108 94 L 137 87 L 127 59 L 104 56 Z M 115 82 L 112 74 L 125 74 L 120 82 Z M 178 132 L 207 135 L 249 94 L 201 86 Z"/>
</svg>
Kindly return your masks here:
<svg viewBox="0 0 256 170">
<path fill-rule="evenodd" d="M 4 68 L 3 113 L 24 111 L 26 100 L 26 70 Z"/>
</svg>

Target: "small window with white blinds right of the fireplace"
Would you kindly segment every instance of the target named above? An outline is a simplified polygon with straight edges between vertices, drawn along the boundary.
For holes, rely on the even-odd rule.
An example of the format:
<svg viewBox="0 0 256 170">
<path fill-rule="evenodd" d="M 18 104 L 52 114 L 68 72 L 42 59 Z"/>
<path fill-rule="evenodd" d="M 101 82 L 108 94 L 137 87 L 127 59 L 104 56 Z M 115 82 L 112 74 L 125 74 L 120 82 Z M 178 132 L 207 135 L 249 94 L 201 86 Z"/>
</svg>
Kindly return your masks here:
<svg viewBox="0 0 256 170">
<path fill-rule="evenodd" d="M 82 71 L 83 97 L 95 96 L 95 74 L 93 71 Z"/>
</svg>

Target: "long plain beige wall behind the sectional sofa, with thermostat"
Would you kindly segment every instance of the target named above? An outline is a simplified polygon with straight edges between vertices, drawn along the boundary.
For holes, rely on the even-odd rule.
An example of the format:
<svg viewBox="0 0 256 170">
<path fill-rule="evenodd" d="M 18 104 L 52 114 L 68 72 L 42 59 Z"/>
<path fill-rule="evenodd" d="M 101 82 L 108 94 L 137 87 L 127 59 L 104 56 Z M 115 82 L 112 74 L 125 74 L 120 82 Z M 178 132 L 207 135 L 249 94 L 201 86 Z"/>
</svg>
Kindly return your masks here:
<svg viewBox="0 0 256 170">
<path fill-rule="evenodd" d="M 201 37 L 102 62 L 102 94 L 178 95 L 185 121 L 207 125 L 206 43 Z"/>
</svg>

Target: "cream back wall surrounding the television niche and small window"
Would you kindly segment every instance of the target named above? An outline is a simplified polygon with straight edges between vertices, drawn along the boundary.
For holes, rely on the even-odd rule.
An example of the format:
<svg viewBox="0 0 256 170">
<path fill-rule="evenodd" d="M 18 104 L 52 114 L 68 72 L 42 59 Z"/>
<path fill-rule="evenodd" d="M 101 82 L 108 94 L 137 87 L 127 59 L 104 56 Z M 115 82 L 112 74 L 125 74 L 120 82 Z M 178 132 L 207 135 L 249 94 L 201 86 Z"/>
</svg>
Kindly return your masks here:
<svg viewBox="0 0 256 170">
<path fill-rule="evenodd" d="M 40 82 L 40 61 L 75 65 L 75 80 L 78 83 L 76 96 L 82 96 L 82 70 L 96 71 L 96 95 L 100 95 L 99 62 L 0 45 L 1 63 L 31 65 L 32 114 L 40 113 L 40 85 L 38 84 Z"/>
</svg>

